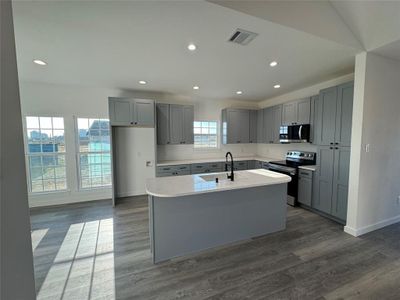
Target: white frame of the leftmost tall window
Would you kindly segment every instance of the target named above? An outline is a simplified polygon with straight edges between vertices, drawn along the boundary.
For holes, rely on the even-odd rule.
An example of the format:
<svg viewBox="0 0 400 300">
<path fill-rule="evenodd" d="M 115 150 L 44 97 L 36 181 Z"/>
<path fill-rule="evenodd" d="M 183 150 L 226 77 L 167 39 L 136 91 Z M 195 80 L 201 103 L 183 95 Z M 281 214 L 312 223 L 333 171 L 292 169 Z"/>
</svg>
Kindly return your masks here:
<svg viewBox="0 0 400 300">
<path fill-rule="evenodd" d="M 40 153 L 29 153 L 29 143 L 28 143 L 28 126 L 26 122 L 27 117 L 45 117 L 45 118 L 62 118 L 64 123 L 64 144 L 65 144 L 65 151 L 64 152 L 40 152 Z M 46 194 L 55 194 L 55 193 L 65 193 L 69 191 L 69 182 L 68 182 L 68 166 L 67 166 L 67 156 L 68 156 L 68 145 L 67 145 L 67 138 L 66 138 L 66 126 L 65 126 L 65 116 L 58 115 L 58 114 L 44 114 L 44 113 L 32 113 L 32 114 L 25 114 L 22 117 L 22 127 L 23 127 L 23 141 L 24 141 L 24 155 L 25 155 L 25 170 L 26 170 L 26 179 L 27 179 L 27 187 L 28 187 L 28 195 L 46 195 Z M 52 124 L 53 126 L 53 124 Z M 39 124 L 39 129 L 40 124 Z M 52 130 L 59 130 L 54 129 Z M 31 168 L 30 168 L 30 157 L 40 157 L 40 156 L 64 156 L 65 161 L 65 188 L 64 189 L 55 189 L 50 191 L 40 191 L 40 192 L 33 192 L 32 191 L 32 177 L 31 177 Z M 55 179 L 57 177 L 54 177 Z M 43 179 L 42 179 L 43 180 Z"/>
</svg>

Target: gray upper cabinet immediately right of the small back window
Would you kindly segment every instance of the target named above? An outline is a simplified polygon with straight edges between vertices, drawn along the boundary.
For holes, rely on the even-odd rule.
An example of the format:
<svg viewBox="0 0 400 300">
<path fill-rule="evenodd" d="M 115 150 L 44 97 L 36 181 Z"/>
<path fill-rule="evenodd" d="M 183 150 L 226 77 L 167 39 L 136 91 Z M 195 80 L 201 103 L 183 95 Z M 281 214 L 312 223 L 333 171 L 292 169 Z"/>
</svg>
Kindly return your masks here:
<svg viewBox="0 0 400 300">
<path fill-rule="evenodd" d="M 249 143 L 250 113 L 247 109 L 222 110 L 222 143 Z"/>
</svg>

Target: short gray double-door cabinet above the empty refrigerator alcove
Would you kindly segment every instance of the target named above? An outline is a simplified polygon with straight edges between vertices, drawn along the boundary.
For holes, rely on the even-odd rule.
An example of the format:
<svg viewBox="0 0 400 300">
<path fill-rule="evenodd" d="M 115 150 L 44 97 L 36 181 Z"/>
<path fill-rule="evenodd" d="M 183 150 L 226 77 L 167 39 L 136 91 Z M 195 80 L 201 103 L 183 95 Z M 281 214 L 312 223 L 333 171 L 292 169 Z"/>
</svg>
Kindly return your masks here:
<svg viewBox="0 0 400 300">
<path fill-rule="evenodd" d="M 154 127 L 154 100 L 108 98 L 111 126 Z"/>
</svg>

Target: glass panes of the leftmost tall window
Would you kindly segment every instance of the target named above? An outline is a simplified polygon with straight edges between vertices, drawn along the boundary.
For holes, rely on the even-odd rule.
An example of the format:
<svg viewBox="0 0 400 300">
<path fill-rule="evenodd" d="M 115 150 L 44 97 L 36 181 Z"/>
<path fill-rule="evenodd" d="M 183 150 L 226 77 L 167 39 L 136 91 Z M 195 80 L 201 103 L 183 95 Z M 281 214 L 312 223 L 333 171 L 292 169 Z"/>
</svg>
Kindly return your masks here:
<svg viewBox="0 0 400 300">
<path fill-rule="evenodd" d="M 26 142 L 30 192 L 66 190 L 64 118 L 26 117 Z"/>
</svg>

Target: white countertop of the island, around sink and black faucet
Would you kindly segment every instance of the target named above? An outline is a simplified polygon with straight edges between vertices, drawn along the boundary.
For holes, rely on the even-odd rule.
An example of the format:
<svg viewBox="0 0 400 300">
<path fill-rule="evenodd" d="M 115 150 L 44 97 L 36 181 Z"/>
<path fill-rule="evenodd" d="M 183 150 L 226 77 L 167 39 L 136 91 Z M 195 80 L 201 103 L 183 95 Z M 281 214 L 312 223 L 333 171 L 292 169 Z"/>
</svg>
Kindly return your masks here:
<svg viewBox="0 0 400 300">
<path fill-rule="evenodd" d="M 155 197 L 179 197 L 219 191 L 245 189 L 282 184 L 291 181 L 285 174 L 264 170 L 235 171 L 235 180 L 226 178 L 227 172 L 197 175 L 157 177 L 146 181 L 146 192 Z M 207 176 L 207 177 L 205 177 Z M 219 182 L 215 182 L 218 176 Z M 207 181 L 205 178 L 208 178 Z"/>
</svg>

